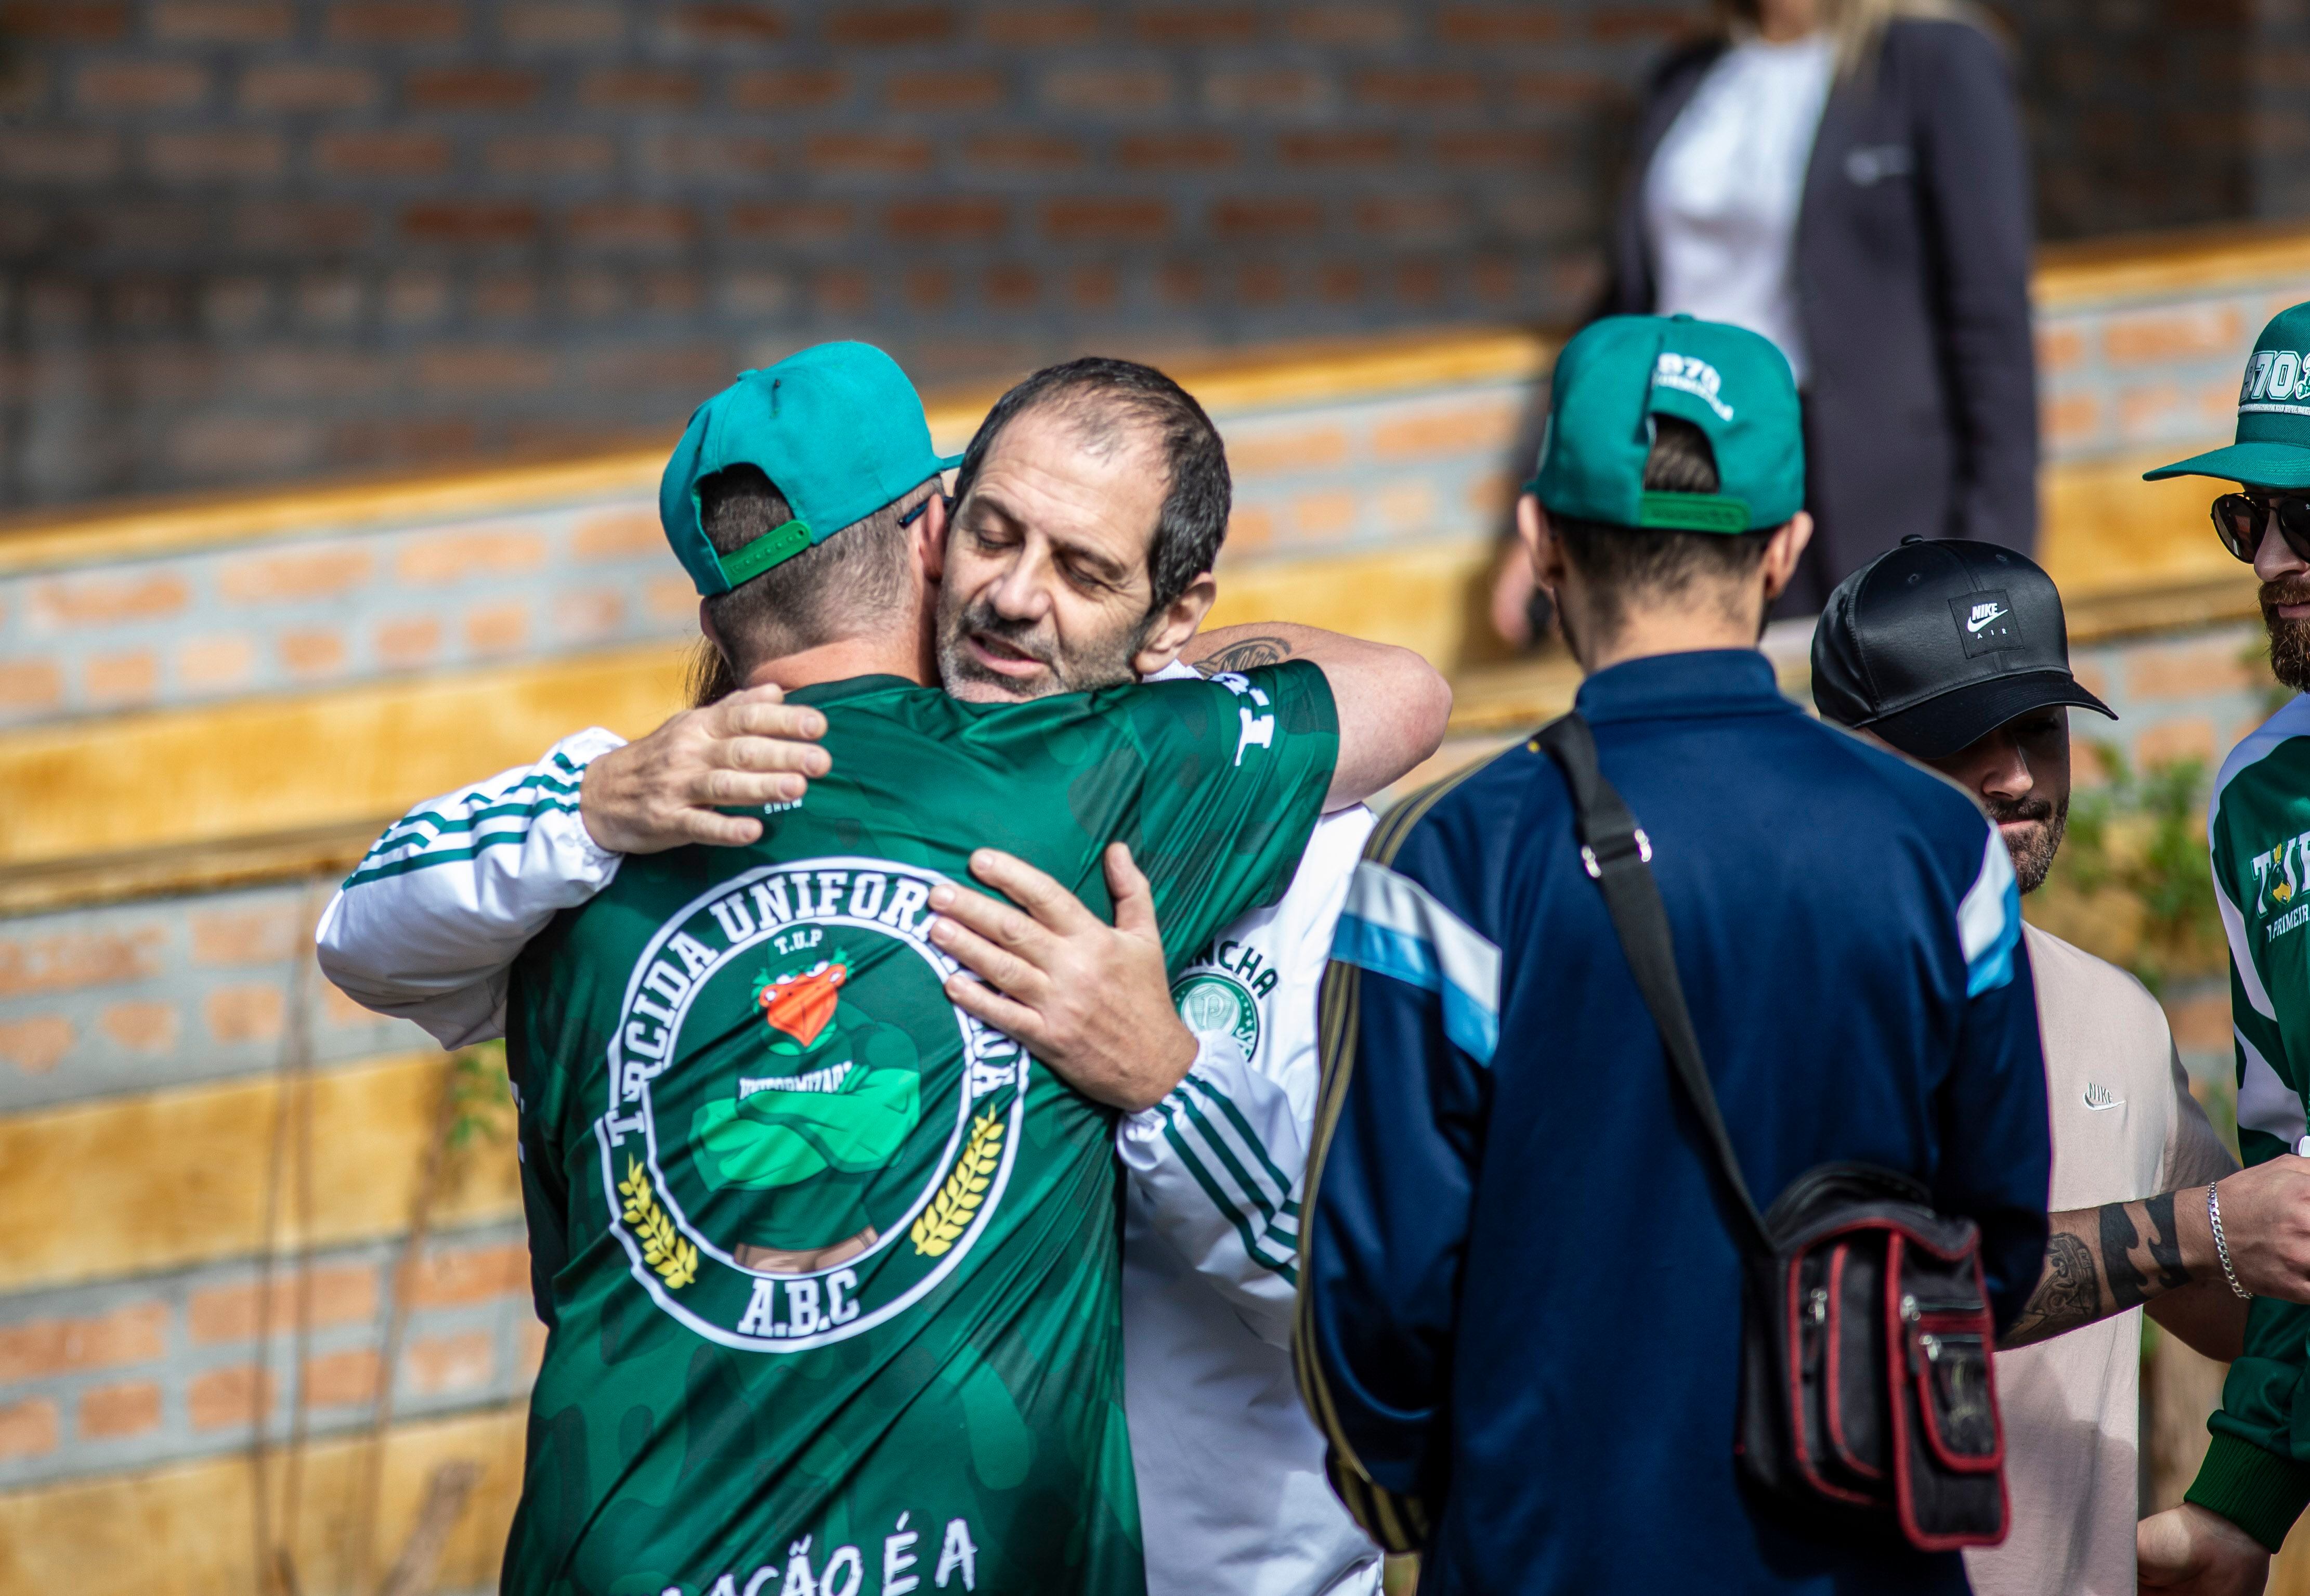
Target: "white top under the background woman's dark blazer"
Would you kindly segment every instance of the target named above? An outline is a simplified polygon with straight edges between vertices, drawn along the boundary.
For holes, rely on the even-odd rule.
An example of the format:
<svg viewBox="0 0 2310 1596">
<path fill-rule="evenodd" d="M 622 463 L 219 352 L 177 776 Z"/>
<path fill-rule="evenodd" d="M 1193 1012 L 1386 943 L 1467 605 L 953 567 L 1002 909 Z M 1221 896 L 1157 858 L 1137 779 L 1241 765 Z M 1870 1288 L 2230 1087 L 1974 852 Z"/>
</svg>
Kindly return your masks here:
<svg viewBox="0 0 2310 1596">
<path fill-rule="evenodd" d="M 1645 173 L 1654 309 L 1763 333 L 1809 374 L 1797 321 L 1797 210 L 1830 99 L 1827 32 L 1728 49 L 1670 122 Z"/>
</svg>

